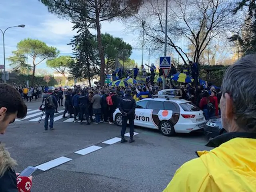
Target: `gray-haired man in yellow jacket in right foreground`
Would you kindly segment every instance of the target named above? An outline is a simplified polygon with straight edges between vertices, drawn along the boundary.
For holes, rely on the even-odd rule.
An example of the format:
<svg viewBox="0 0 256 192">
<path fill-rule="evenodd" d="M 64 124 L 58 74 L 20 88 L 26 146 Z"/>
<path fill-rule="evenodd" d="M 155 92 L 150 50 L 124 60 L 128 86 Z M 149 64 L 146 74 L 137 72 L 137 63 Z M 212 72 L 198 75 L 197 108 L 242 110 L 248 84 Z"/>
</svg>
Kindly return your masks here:
<svg viewBox="0 0 256 192">
<path fill-rule="evenodd" d="M 184 163 L 164 192 L 256 192 L 256 55 L 230 66 L 222 81 L 222 125 L 211 151 Z"/>
</svg>

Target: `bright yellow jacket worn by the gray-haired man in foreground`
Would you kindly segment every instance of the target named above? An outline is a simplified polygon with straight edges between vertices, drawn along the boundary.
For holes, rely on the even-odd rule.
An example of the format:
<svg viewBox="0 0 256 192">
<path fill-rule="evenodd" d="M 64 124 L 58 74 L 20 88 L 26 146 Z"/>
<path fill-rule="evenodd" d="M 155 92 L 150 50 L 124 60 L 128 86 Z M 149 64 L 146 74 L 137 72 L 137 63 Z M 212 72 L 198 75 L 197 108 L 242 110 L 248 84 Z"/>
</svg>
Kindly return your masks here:
<svg viewBox="0 0 256 192">
<path fill-rule="evenodd" d="M 238 136 L 197 154 L 164 192 L 256 192 L 256 139 Z"/>
</svg>

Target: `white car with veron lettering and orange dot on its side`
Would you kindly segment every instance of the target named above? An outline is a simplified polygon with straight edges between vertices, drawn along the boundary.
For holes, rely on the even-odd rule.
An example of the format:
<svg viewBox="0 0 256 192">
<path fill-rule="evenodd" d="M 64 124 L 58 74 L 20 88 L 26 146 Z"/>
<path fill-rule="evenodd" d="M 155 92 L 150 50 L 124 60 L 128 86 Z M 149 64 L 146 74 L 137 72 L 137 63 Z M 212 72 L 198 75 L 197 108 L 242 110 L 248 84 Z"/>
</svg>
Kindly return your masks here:
<svg viewBox="0 0 256 192">
<path fill-rule="evenodd" d="M 116 125 L 122 126 L 119 109 L 113 118 Z M 146 98 L 136 102 L 134 125 L 159 129 L 165 136 L 203 129 L 205 122 L 203 111 L 184 99 Z"/>
</svg>

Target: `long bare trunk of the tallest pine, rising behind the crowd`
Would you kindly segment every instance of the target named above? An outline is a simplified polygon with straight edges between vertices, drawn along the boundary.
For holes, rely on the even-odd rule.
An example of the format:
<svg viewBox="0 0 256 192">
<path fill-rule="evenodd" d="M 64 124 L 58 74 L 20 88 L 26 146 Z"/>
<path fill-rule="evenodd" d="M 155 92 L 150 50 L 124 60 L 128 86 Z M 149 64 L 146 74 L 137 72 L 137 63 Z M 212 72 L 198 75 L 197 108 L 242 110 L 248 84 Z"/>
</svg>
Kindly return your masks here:
<svg viewBox="0 0 256 192">
<path fill-rule="evenodd" d="M 102 49 L 102 41 L 101 41 L 101 34 L 100 34 L 100 21 L 98 16 L 98 11 L 96 11 L 96 28 L 97 28 L 97 40 L 98 40 L 98 49 L 100 55 L 100 85 L 104 85 L 105 81 L 105 58 L 104 58 L 104 51 Z"/>
</svg>

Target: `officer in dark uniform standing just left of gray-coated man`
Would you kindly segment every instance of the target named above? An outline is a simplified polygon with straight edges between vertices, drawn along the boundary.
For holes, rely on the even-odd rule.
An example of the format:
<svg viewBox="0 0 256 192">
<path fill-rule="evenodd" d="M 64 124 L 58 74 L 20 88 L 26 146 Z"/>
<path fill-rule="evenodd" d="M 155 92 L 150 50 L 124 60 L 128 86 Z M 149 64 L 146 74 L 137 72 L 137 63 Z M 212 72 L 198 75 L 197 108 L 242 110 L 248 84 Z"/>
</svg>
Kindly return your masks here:
<svg viewBox="0 0 256 192">
<path fill-rule="evenodd" d="M 81 91 L 80 91 L 81 92 Z M 79 108 L 80 108 L 80 112 L 79 112 L 79 123 L 83 123 L 84 120 L 84 115 L 86 117 L 86 121 L 87 121 L 87 125 L 90 125 L 89 123 L 89 99 L 88 99 L 88 95 L 86 95 L 86 91 L 82 91 L 79 98 L 78 98 L 78 104 L 79 104 Z"/>
</svg>

